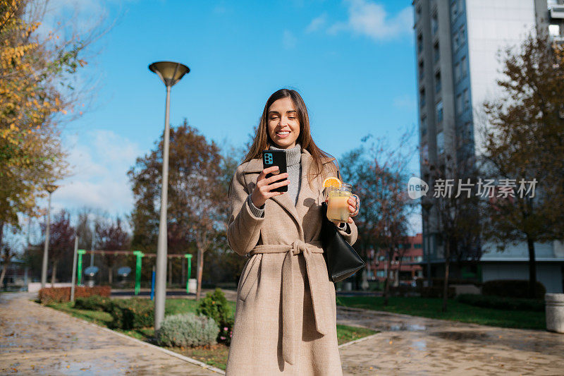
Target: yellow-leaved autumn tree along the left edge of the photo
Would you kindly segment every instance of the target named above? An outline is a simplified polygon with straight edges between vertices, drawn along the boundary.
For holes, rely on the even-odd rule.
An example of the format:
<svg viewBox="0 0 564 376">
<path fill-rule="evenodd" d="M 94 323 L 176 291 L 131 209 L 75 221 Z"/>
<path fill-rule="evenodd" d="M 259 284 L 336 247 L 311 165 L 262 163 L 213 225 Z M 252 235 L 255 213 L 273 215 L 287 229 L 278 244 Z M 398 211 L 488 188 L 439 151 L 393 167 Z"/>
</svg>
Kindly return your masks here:
<svg viewBox="0 0 564 376">
<path fill-rule="evenodd" d="M 66 175 L 59 125 L 73 118 L 75 74 L 97 37 L 96 28 L 79 34 L 68 23 L 36 32 L 46 8 L 47 0 L 0 0 L 0 229 L 18 226 L 18 213 L 34 210 L 44 186 Z"/>
</svg>

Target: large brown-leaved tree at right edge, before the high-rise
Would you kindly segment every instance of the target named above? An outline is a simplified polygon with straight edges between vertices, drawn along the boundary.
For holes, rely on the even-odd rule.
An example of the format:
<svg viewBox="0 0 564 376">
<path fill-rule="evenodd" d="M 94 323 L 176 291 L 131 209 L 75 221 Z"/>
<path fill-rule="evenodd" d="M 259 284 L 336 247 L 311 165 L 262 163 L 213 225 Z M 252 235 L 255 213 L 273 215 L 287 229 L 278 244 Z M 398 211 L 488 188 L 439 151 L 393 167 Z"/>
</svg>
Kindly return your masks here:
<svg viewBox="0 0 564 376">
<path fill-rule="evenodd" d="M 484 159 L 509 190 L 505 200 L 486 205 L 484 238 L 498 250 L 527 243 L 533 297 L 534 243 L 564 235 L 564 51 L 546 35 L 529 35 L 500 55 L 505 95 L 483 105 Z"/>
</svg>

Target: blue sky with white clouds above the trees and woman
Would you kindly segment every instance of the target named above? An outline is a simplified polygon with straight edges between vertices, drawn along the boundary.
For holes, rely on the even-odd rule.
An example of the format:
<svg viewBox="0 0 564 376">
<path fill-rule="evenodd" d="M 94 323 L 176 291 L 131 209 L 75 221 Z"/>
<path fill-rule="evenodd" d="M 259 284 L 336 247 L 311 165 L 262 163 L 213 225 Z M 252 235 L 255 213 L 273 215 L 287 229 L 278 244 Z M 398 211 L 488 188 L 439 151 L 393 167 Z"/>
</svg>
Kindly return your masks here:
<svg viewBox="0 0 564 376">
<path fill-rule="evenodd" d="M 394 145 L 412 126 L 417 174 L 411 1 L 54 0 L 51 11 L 76 3 L 83 25 L 103 15 L 116 24 L 81 73 L 96 85 L 64 131 L 74 174 L 54 193 L 56 209 L 130 212 L 125 172 L 164 127 L 164 85 L 147 68 L 161 60 L 191 69 L 172 89 L 173 126 L 186 118 L 207 138 L 240 146 L 269 95 L 291 87 L 309 108 L 314 140 L 336 157 L 368 133 Z"/>
</svg>

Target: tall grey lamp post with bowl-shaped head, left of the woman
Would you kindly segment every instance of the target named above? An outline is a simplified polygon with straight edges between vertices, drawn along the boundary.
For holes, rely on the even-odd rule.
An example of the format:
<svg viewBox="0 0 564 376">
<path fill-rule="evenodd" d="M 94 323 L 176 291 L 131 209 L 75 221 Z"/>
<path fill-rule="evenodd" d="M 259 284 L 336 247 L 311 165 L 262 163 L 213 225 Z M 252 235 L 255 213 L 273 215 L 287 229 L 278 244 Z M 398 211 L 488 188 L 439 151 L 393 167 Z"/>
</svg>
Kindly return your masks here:
<svg viewBox="0 0 564 376">
<path fill-rule="evenodd" d="M 190 68 L 173 61 L 158 61 L 149 65 L 149 70 L 157 73 L 166 86 L 166 109 L 164 116 L 163 138 L 163 182 L 161 187 L 161 219 L 159 224 L 159 241 L 157 243 L 157 276 L 154 294 L 154 329 L 161 328 L 164 318 L 164 302 L 166 301 L 166 259 L 167 259 L 167 231 L 166 231 L 166 206 L 168 205 L 168 119 L 170 116 L 171 87 L 180 78 L 190 72 Z"/>
</svg>

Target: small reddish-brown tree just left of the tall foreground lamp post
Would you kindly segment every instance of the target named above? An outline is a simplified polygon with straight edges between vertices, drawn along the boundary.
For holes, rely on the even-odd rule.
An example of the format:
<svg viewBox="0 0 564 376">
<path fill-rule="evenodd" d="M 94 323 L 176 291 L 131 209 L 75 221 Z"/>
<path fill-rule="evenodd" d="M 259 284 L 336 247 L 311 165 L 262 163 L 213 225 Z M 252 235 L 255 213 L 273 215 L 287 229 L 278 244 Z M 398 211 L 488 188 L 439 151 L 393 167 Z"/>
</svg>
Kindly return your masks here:
<svg viewBox="0 0 564 376">
<path fill-rule="evenodd" d="M 123 229 L 123 222 L 118 217 L 116 222 L 102 222 L 96 224 L 96 248 L 99 250 L 128 250 L 130 249 L 130 236 Z M 114 267 L 118 255 L 104 254 L 103 260 L 108 267 L 108 283 L 111 285 L 114 277 Z"/>
</svg>

